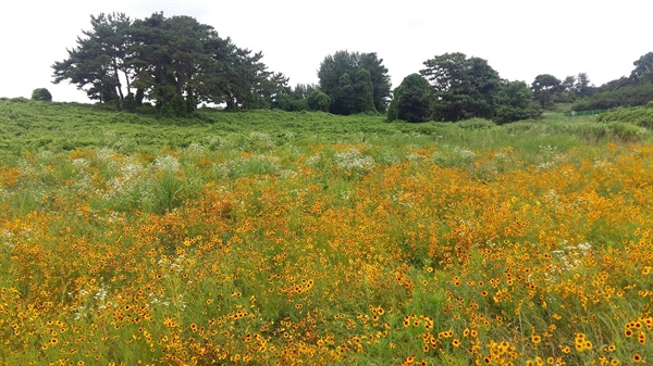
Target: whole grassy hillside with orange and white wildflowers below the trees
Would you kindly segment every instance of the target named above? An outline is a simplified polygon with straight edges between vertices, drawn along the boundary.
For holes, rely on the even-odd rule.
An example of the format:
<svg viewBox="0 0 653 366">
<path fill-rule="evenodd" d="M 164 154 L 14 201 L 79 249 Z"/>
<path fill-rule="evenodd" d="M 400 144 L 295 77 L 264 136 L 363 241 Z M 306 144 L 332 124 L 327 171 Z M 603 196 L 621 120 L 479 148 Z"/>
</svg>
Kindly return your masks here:
<svg viewBox="0 0 653 366">
<path fill-rule="evenodd" d="M 653 362 L 650 130 L 383 121 L 0 100 L 0 364 Z"/>
</svg>

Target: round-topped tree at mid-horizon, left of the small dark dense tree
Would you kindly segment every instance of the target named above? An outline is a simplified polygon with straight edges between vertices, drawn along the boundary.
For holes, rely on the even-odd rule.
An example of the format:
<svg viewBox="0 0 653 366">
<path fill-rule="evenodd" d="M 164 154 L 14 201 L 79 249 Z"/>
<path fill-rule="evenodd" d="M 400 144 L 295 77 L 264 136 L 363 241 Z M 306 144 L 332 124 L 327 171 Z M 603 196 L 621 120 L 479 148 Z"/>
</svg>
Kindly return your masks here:
<svg viewBox="0 0 653 366">
<path fill-rule="evenodd" d="M 390 98 L 390 76 L 382 62 L 375 53 L 348 51 L 337 51 L 324 58 L 318 77 L 320 90 L 331 98 L 330 112 L 354 114 L 385 111 Z"/>
</svg>

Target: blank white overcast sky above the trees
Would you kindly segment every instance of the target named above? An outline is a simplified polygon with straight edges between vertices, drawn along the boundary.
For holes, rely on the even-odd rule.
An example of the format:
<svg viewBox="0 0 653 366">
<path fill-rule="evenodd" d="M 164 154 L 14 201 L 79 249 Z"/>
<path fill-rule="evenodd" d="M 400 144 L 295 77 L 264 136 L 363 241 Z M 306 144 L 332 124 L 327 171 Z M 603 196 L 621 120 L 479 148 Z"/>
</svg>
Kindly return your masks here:
<svg viewBox="0 0 653 366">
<path fill-rule="evenodd" d="M 529 85 L 539 74 L 587 73 L 599 86 L 653 51 L 653 0 L 0 0 L 0 97 L 48 88 L 56 101 L 87 102 L 75 86 L 51 83 L 51 65 L 90 28 L 89 15 L 159 11 L 262 51 L 293 87 L 317 84 L 320 62 L 338 50 L 377 52 L 393 88 L 446 52 L 485 59 L 502 78 Z"/>
</svg>

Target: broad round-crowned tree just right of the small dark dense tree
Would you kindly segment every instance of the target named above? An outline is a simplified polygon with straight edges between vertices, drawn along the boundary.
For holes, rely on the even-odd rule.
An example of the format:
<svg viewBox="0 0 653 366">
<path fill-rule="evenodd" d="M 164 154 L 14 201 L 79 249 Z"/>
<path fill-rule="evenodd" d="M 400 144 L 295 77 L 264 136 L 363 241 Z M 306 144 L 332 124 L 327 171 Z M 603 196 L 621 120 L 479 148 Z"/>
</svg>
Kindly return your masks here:
<svg viewBox="0 0 653 366">
<path fill-rule="evenodd" d="M 492 118 L 501 78 L 488 62 L 464 53 L 445 53 L 424 61 L 420 74 L 433 89 L 433 119 Z"/>
</svg>

